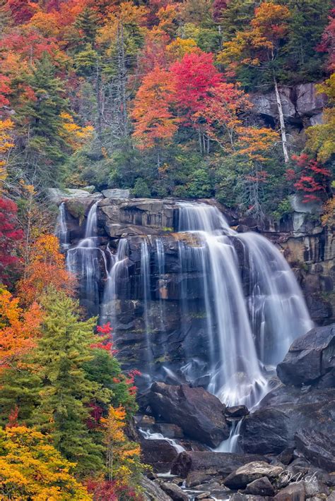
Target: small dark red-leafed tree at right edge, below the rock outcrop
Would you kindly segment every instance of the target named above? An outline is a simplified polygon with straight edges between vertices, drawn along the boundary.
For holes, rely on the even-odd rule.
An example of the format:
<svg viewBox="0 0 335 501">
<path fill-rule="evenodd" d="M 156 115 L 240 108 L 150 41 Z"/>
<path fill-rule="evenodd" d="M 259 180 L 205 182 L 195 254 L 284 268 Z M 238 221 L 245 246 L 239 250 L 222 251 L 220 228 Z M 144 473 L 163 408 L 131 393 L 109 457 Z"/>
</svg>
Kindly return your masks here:
<svg viewBox="0 0 335 501">
<path fill-rule="evenodd" d="M 312 202 L 322 200 L 327 193 L 331 173 L 329 169 L 323 167 L 317 160 L 311 159 L 305 153 L 293 155 L 298 172 L 290 169 L 287 173 L 288 179 L 296 179 L 295 189 L 302 193 L 302 202 Z"/>
</svg>

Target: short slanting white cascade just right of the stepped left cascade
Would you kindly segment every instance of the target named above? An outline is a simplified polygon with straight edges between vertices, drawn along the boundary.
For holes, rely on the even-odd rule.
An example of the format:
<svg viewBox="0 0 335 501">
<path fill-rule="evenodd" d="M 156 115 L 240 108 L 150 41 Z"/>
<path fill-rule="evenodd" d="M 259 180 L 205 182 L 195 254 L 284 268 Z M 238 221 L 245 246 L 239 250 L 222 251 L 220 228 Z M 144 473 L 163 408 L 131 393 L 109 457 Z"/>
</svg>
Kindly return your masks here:
<svg viewBox="0 0 335 501">
<path fill-rule="evenodd" d="M 107 280 L 105 282 L 100 323 L 111 322 L 115 328 L 117 325 L 117 286 L 122 277 L 126 280 L 128 279 L 128 268 L 126 266 L 128 253 L 127 239 L 119 239 L 116 255 L 110 252 L 108 246 L 107 252 L 110 255 L 110 270 L 107 272 Z"/>
</svg>

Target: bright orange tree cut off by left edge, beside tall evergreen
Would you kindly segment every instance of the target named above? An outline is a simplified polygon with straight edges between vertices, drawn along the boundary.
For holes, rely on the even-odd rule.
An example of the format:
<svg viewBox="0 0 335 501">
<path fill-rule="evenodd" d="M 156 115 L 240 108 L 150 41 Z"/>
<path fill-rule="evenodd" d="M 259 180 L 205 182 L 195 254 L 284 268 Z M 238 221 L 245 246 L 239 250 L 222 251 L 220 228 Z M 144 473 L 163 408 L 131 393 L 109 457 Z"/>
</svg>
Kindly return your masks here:
<svg viewBox="0 0 335 501">
<path fill-rule="evenodd" d="M 0 289 L 0 370 L 20 361 L 35 346 L 42 322 L 37 303 L 23 310 L 18 298 Z"/>
</svg>

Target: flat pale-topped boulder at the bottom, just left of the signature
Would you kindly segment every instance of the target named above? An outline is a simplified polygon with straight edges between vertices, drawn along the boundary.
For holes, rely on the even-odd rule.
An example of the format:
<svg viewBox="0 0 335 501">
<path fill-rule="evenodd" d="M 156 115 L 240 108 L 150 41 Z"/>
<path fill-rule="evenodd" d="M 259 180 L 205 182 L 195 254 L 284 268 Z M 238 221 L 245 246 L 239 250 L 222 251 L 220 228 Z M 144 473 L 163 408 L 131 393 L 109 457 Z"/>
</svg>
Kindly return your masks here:
<svg viewBox="0 0 335 501">
<path fill-rule="evenodd" d="M 278 478 L 283 473 L 283 468 L 276 464 L 268 464 L 265 461 L 252 461 L 244 466 L 240 466 L 233 473 L 230 473 L 224 480 L 224 484 L 230 489 L 244 489 L 249 483 L 266 477 L 270 479 Z"/>
</svg>

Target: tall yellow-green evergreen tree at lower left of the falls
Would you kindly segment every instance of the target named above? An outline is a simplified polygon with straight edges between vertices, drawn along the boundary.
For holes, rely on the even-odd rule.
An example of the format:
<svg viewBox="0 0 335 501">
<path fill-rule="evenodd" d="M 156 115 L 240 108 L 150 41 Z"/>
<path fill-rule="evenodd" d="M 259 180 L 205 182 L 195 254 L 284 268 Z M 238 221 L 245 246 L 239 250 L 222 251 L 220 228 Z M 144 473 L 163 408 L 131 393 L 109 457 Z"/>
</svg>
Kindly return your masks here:
<svg viewBox="0 0 335 501">
<path fill-rule="evenodd" d="M 87 422 L 90 404 L 107 402 L 110 392 L 88 379 L 84 364 L 93 359 L 95 318 L 80 320 L 78 305 L 64 293 L 50 290 L 46 318 L 35 361 L 43 388 L 33 418 L 66 459 L 78 464 L 78 473 L 101 471 L 103 447 L 95 443 Z"/>
</svg>

